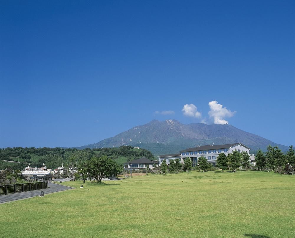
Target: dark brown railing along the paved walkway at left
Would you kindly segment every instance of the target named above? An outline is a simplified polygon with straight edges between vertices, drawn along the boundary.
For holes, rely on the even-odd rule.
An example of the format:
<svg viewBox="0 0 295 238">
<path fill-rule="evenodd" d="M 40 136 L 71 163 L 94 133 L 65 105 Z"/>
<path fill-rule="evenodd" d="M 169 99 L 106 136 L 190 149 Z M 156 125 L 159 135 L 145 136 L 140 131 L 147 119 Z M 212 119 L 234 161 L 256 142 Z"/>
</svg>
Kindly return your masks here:
<svg viewBox="0 0 295 238">
<path fill-rule="evenodd" d="M 19 193 L 37 189 L 47 188 L 48 182 L 37 182 L 37 183 L 19 183 L 11 185 L 1 185 L 0 186 L 0 195 L 5 195 L 9 193 Z"/>
</svg>

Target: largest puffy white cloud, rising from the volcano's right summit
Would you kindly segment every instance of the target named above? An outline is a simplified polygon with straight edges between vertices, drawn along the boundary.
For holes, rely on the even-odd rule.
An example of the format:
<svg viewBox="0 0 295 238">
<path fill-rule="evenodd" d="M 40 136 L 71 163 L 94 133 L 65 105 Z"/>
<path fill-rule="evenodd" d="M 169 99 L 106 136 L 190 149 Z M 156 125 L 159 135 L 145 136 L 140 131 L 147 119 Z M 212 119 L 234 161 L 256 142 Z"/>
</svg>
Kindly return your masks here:
<svg viewBox="0 0 295 238">
<path fill-rule="evenodd" d="M 214 118 L 215 124 L 228 124 L 228 121 L 224 120 L 224 118 L 232 117 L 236 111 L 230 111 L 226 107 L 223 107 L 222 104 L 218 104 L 217 101 L 209 102 L 210 111 L 208 112 L 209 117 Z"/>
</svg>

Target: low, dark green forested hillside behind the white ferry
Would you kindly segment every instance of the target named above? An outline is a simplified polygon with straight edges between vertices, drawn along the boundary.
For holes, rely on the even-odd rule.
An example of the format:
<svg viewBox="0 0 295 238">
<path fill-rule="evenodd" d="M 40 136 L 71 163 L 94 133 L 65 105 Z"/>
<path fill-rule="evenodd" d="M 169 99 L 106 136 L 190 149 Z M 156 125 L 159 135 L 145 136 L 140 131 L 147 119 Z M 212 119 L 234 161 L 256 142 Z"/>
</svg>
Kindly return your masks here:
<svg viewBox="0 0 295 238">
<path fill-rule="evenodd" d="M 68 167 L 71 162 L 79 163 L 82 160 L 89 160 L 91 157 L 100 157 L 102 155 L 109 156 L 112 160 L 118 164 L 123 163 L 141 157 L 147 157 L 150 160 L 155 160 L 154 155 L 145 149 L 135 149 L 132 146 L 121 146 L 116 148 L 101 148 L 101 149 L 89 149 L 84 150 L 77 149 L 63 149 L 63 148 L 23 148 L 13 147 L 0 149 L 0 170 L 5 168 L 12 168 L 13 170 L 24 169 L 28 163 L 30 167 L 42 167 L 43 163 L 47 168 L 58 168 L 62 165 Z M 16 161 L 20 163 L 5 162 L 3 160 Z"/>
</svg>

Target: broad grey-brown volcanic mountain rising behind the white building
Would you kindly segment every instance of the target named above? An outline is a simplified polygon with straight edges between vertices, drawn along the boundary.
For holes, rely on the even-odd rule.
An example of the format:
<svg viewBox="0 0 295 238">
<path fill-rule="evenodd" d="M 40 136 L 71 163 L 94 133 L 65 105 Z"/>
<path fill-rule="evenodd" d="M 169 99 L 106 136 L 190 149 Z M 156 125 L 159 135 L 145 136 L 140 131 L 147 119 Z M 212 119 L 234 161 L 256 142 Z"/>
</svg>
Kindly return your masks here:
<svg viewBox="0 0 295 238">
<path fill-rule="evenodd" d="M 265 151 L 268 145 L 278 146 L 283 151 L 288 150 L 288 147 L 285 145 L 280 145 L 250 132 L 245 132 L 230 124 L 182 124 L 175 119 L 167 119 L 162 122 L 154 119 L 144 125 L 132 127 L 114 137 L 76 148 L 131 145 L 148 149 L 154 155 L 159 155 L 177 153 L 180 150 L 195 147 L 196 145 L 208 145 L 211 143 L 218 145 L 236 142 L 241 142 L 250 147 L 251 152 L 259 148 Z"/>
</svg>

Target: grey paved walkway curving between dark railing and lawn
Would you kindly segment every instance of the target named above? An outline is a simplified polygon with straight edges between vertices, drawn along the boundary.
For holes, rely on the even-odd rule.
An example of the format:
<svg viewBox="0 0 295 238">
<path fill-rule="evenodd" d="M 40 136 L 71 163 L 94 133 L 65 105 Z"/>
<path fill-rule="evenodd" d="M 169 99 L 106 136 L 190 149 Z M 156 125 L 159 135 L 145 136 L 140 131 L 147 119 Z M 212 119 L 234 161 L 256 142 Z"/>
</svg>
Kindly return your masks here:
<svg viewBox="0 0 295 238">
<path fill-rule="evenodd" d="M 67 187 L 67 186 L 63 186 L 60 184 L 48 182 L 48 188 L 1 195 L 0 196 L 0 203 L 6 203 L 6 202 L 14 201 L 14 200 L 32 198 L 35 196 L 39 196 L 41 191 L 43 191 L 46 196 L 46 194 L 48 194 L 48 193 L 55 193 L 55 192 L 64 191 L 64 190 L 68 190 L 68 189 L 72 189 L 72 188 Z"/>
</svg>

